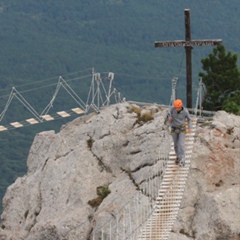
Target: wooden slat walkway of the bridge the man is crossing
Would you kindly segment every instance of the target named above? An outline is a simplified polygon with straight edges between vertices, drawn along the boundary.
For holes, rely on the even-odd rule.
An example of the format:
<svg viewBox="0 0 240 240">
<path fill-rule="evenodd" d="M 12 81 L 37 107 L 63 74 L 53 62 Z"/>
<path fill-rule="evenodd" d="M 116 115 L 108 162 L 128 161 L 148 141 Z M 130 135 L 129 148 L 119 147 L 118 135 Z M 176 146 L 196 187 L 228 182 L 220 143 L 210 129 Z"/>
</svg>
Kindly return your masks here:
<svg viewBox="0 0 240 240">
<path fill-rule="evenodd" d="M 193 119 L 193 131 L 186 134 L 186 164 L 176 165 L 173 144 L 169 153 L 169 161 L 159 189 L 154 212 L 142 229 L 139 240 L 167 240 L 180 208 L 182 196 L 187 182 L 191 164 L 191 154 L 196 131 L 196 118 Z"/>
</svg>

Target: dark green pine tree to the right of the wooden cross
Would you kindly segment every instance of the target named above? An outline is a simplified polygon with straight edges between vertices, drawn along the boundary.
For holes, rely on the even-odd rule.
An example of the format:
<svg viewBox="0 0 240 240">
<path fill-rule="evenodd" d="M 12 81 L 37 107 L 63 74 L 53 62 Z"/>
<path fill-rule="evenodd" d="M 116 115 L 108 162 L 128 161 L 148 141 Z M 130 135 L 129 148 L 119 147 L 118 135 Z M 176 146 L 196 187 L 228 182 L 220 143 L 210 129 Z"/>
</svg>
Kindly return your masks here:
<svg viewBox="0 0 240 240">
<path fill-rule="evenodd" d="M 237 54 L 226 53 L 223 45 L 217 46 L 208 58 L 202 59 L 202 77 L 207 92 L 203 107 L 206 110 L 225 110 L 240 114 L 240 72 Z"/>
</svg>

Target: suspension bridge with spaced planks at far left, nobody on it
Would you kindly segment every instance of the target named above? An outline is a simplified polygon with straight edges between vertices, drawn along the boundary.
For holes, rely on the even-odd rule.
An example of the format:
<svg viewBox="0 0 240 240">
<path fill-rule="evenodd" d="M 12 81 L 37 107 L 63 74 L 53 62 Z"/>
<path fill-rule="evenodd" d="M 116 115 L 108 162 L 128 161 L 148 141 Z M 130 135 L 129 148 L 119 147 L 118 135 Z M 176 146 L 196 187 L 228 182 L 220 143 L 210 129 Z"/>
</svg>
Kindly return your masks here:
<svg viewBox="0 0 240 240">
<path fill-rule="evenodd" d="M 65 80 L 62 76 L 59 77 L 55 91 L 51 96 L 49 103 L 44 107 L 41 113 L 39 113 L 36 108 L 33 107 L 33 105 L 30 104 L 26 98 L 24 98 L 23 94 L 18 91 L 16 87 L 12 87 L 8 96 L 8 100 L 6 101 L 6 105 L 0 114 L 0 131 L 21 128 L 28 125 L 44 123 L 74 115 L 87 114 L 90 111 L 98 112 L 101 107 L 106 107 L 110 103 L 112 104 L 124 101 L 124 98 L 121 96 L 120 92 L 118 92 L 116 88 L 113 88 L 114 73 L 112 72 L 109 72 L 106 77 L 102 77 L 100 73 L 94 72 L 94 69 L 92 70 L 91 84 L 87 99 L 85 99 L 85 101 L 70 86 L 69 82 L 73 80 L 76 81 L 75 78 Z M 74 100 L 76 106 L 70 110 L 62 109 L 56 113 L 49 114 L 49 111 L 53 108 L 61 89 L 65 90 L 68 96 Z M 15 99 L 28 111 L 31 117 L 10 122 L 6 125 L 1 124 L 10 108 L 11 103 Z"/>
</svg>

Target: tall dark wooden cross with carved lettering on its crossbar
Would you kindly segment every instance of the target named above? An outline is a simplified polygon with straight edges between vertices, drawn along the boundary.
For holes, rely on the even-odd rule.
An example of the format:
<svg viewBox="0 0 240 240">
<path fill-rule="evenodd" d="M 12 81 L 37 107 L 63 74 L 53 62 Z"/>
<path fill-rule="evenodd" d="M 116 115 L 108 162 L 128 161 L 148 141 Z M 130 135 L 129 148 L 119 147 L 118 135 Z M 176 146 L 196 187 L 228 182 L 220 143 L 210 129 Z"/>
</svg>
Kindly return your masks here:
<svg viewBox="0 0 240 240">
<path fill-rule="evenodd" d="M 155 47 L 185 47 L 186 51 L 186 92 L 187 92 L 187 108 L 192 108 L 192 48 L 195 46 L 213 46 L 220 45 L 221 39 L 210 40 L 191 40 L 190 30 L 190 10 L 185 9 L 185 41 L 160 41 L 155 42 Z"/>
</svg>

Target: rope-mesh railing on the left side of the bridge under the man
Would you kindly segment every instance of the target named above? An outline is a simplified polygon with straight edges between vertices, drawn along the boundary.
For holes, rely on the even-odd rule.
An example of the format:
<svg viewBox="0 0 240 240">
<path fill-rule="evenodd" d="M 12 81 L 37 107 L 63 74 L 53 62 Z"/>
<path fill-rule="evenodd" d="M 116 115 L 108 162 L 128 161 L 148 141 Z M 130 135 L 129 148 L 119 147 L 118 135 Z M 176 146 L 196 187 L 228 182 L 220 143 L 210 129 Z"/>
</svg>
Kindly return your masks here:
<svg viewBox="0 0 240 240">
<path fill-rule="evenodd" d="M 171 139 L 167 130 L 160 135 L 159 156 L 151 167 L 150 175 L 124 206 L 115 214 L 109 214 L 108 220 L 101 226 L 94 226 L 89 239 L 91 240 L 137 240 L 142 228 L 153 214 L 158 191 L 162 183 L 167 160 L 169 158 Z M 111 203 L 112 204 L 112 203 Z M 98 216 L 94 221 L 97 222 Z"/>
</svg>

